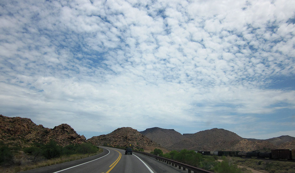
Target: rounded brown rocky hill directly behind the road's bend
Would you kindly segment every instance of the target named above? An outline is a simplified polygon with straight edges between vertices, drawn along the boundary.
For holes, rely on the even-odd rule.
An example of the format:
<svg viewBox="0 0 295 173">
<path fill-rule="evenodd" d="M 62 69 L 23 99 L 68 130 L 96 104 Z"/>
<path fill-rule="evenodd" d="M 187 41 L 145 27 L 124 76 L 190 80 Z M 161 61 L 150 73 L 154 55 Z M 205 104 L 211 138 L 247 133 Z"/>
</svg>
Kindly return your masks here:
<svg viewBox="0 0 295 173">
<path fill-rule="evenodd" d="M 145 150 L 153 150 L 155 148 L 163 149 L 159 144 L 131 127 L 117 128 L 112 133 L 93 136 L 87 139 L 87 141 L 94 145 L 132 147 L 135 149 L 143 148 Z"/>
</svg>

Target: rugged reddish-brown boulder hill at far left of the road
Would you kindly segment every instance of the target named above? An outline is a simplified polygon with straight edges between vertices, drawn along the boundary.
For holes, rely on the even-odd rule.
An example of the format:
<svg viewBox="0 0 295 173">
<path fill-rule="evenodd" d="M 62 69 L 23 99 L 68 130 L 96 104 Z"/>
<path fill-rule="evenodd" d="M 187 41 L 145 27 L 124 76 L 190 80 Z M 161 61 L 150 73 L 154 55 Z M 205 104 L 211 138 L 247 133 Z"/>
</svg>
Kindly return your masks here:
<svg viewBox="0 0 295 173">
<path fill-rule="evenodd" d="M 0 142 L 25 146 L 28 143 L 47 143 L 50 140 L 56 141 L 61 146 L 86 142 L 86 138 L 78 135 L 68 124 L 61 124 L 50 129 L 36 125 L 29 118 L 0 115 Z"/>
</svg>

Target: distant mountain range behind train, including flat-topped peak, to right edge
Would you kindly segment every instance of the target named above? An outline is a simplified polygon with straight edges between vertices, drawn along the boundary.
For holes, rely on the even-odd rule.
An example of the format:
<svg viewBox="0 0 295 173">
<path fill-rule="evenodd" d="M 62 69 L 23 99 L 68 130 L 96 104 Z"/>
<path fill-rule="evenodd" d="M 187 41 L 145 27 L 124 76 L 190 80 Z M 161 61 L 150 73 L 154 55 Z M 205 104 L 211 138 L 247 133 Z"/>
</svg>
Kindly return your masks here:
<svg viewBox="0 0 295 173">
<path fill-rule="evenodd" d="M 291 149 L 295 146 L 294 137 L 291 136 L 280 136 L 266 140 L 244 139 L 231 131 L 219 128 L 199 131 L 194 134 L 183 134 L 182 137 L 171 129 L 149 128 L 142 132 L 169 150 L 270 151 L 279 148 Z M 169 143 L 169 141 L 172 142 Z"/>
</svg>

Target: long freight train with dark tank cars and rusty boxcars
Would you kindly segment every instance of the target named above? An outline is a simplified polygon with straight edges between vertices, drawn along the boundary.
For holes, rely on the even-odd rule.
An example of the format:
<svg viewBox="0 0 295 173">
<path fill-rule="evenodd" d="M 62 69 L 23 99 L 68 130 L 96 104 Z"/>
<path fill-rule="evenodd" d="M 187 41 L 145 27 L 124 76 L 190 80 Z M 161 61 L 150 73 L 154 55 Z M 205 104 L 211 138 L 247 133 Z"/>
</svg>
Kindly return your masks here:
<svg viewBox="0 0 295 173">
<path fill-rule="evenodd" d="M 257 157 L 269 159 L 295 160 L 295 149 L 276 149 L 271 152 L 244 152 L 244 151 L 197 151 L 203 155 Z"/>
</svg>

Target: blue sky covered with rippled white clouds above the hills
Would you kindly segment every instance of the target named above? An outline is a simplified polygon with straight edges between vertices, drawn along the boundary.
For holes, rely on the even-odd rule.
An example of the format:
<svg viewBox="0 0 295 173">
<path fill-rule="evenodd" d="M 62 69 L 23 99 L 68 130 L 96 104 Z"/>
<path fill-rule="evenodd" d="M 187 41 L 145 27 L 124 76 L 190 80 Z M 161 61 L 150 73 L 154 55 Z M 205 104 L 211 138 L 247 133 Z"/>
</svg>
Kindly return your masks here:
<svg viewBox="0 0 295 173">
<path fill-rule="evenodd" d="M 295 136 L 295 1 L 0 0 L 0 114 Z"/>
</svg>

